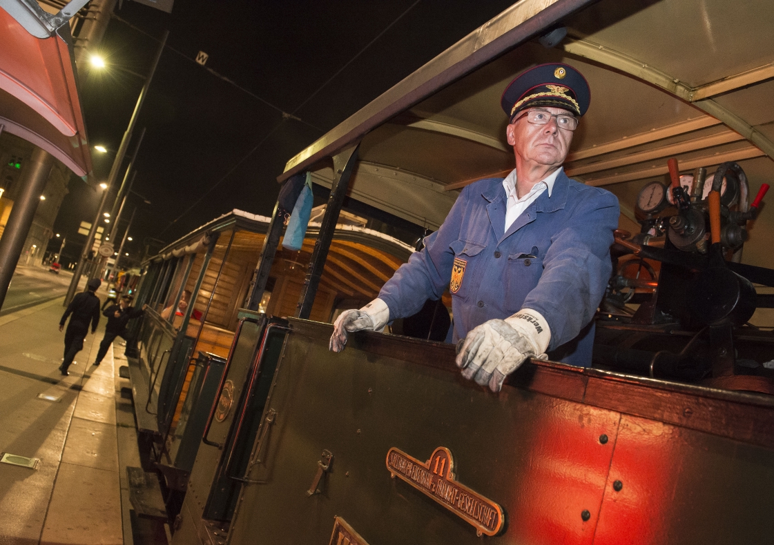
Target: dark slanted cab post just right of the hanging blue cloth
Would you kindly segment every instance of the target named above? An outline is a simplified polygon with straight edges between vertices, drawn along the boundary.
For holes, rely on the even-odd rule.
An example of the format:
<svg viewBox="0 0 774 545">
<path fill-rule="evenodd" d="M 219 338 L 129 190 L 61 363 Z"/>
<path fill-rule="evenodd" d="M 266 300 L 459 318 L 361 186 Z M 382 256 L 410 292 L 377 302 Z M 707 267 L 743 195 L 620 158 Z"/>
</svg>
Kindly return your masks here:
<svg viewBox="0 0 774 545">
<path fill-rule="evenodd" d="M 303 281 L 303 288 L 301 288 L 296 318 L 306 320 L 312 312 L 314 296 L 317 295 L 317 286 L 320 285 L 320 277 L 323 275 L 325 260 L 328 257 L 328 250 L 330 250 L 330 242 L 334 238 L 341 205 L 344 203 L 344 197 L 347 196 L 352 170 L 355 163 L 358 162 L 359 147 L 360 144 L 355 145 L 334 157 L 334 171 L 336 172 L 337 179 L 334 181 L 333 186 L 330 187 L 330 197 L 328 197 L 328 203 L 325 207 L 323 222 L 320 224 L 320 234 L 314 243 L 309 272 L 307 273 L 307 278 Z"/>
</svg>

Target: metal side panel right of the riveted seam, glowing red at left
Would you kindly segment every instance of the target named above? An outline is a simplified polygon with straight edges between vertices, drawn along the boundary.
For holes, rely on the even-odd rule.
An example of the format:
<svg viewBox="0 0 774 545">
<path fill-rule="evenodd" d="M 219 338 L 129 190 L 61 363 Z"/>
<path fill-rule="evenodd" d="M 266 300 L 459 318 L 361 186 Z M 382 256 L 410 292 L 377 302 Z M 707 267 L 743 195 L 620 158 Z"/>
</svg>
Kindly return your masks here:
<svg viewBox="0 0 774 545">
<path fill-rule="evenodd" d="M 772 489 L 771 450 L 622 416 L 594 545 L 768 545 Z"/>
</svg>

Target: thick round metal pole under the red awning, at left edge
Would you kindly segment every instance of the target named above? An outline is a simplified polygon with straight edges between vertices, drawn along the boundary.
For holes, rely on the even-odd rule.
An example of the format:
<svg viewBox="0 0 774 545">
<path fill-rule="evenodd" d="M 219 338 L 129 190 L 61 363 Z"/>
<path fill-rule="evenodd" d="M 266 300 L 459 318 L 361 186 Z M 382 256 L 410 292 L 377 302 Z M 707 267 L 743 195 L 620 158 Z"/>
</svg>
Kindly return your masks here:
<svg viewBox="0 0 774 545">
<path fill-rule="evenodd" d="M 29 166 L 25 169 L 25 176 L 20 180 L 22 194 L 13 204 L 8 223 L 0 238 L 0 308 L 8 293 L 13 271 L 19 263 L 29 227 L 33 225 L 35 211 L 40 203 L 40 195 L 46 188 L 51 167 L 53 156 L 35 148 Z"/>
</svg>

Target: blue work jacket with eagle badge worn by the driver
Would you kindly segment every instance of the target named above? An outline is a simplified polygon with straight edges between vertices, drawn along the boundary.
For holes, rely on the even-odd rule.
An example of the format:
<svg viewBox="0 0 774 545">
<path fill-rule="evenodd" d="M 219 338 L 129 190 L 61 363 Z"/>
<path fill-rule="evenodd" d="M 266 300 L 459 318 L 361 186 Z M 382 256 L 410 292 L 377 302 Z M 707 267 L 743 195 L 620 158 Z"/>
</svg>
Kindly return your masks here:
<svg viewBox="0 0 774 545">
<path fill-rule="evenodd" d="M 533 308 L 551 328 L 550 358 L 590 366 L 591 320 L 611 274 L 618 199 L 560 172 L 551 196 L 544 191 L 503 233 L 505 210 L 502 179 L 465 187 L 424 250 L 378 297 L 391 319 L 405 318 L 450 286 L 454 342 L 487 320 Z"/>
</svg>

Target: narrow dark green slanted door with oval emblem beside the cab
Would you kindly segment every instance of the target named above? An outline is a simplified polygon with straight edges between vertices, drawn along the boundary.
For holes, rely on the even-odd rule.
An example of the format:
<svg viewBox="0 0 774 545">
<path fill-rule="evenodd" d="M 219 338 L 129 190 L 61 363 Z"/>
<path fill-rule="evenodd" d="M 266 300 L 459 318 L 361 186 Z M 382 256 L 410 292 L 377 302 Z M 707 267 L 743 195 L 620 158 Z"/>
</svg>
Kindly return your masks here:
<svg viewBox="0 0 774 545">
<path fill-rule="evenodd" d="M 176 521 L 176 545 L 224 541 L 241 488 L 237 475 L 247 470 L 249 448 L 279 359 L 284 322 L 257 312 L 241 311 L 240 316 Z"/>
</svg>

